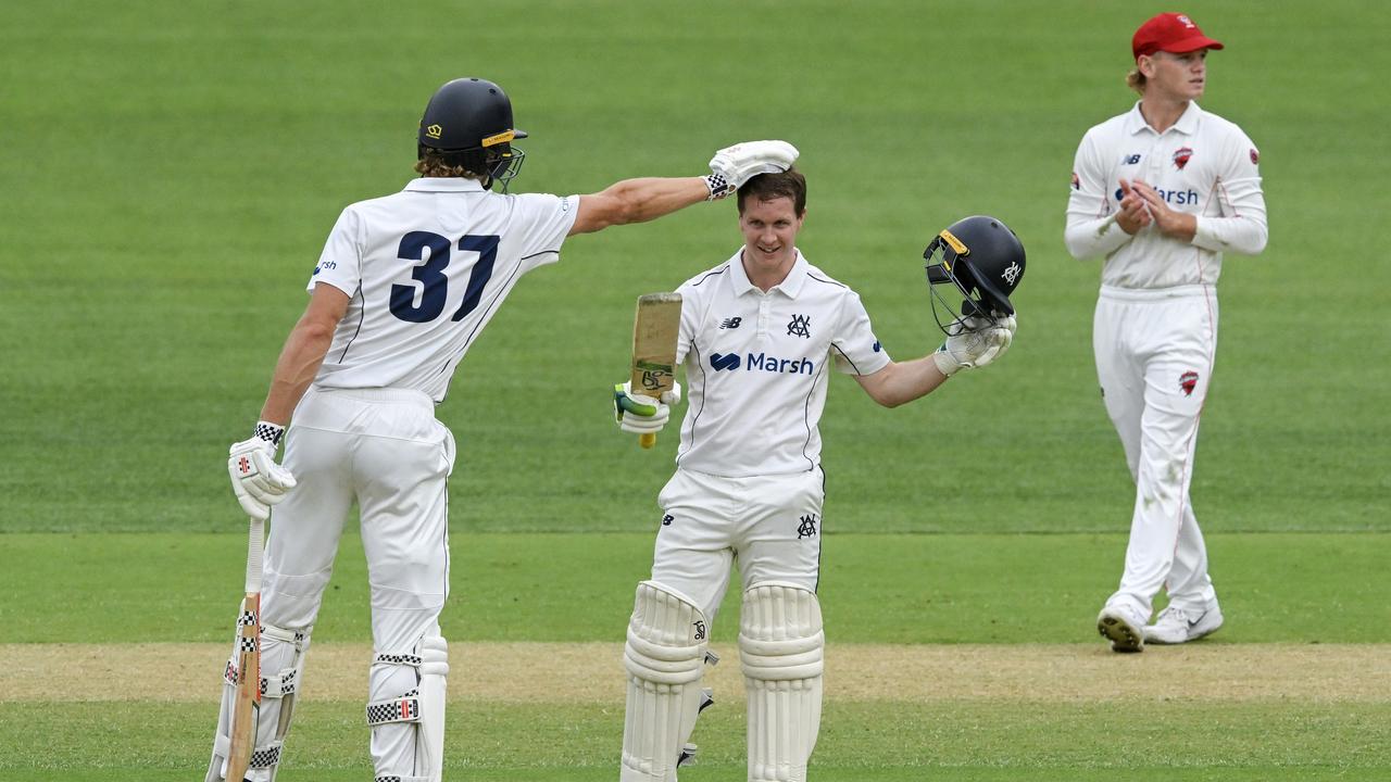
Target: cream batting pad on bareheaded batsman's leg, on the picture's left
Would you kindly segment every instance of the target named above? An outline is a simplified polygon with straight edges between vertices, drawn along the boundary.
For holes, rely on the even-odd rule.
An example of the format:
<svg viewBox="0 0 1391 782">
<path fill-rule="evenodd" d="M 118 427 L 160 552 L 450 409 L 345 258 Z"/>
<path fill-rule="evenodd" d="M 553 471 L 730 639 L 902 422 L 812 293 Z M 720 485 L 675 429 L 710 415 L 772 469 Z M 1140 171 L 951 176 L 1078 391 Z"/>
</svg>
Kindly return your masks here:
<svg viewBox="0 0 1391 782">
<path fill-rule="evenodd" d="M 676 782 L 700 714 L 705 646 L 705 615 L 691 600 L 657 582 L 637 584 L 623 648 L 627 711 L 619 782 Z"/>
</svg>

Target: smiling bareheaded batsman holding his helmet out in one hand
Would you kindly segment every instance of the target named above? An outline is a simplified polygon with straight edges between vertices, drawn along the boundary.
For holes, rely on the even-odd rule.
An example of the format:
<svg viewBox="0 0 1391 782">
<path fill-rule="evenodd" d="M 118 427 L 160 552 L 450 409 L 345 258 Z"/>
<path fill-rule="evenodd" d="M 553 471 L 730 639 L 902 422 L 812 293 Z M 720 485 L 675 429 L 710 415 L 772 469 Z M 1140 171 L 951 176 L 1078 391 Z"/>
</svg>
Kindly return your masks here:
<svg viewBox="0 0 1391 782">
<path fill-rule="evenodd" d="M 694 756 L 709 628 L 737 558 L 739 660 L 748 708 L 750 782 L 804 781 L 821 725 L 825 635 L 817 587 L 825 532 L 818 422 L 830 369 L 893 408 L 961 370 L 999 359 L 1014 337 L 1010 294 L 1024 246 L 1003 223 L 970 217 L 933 239 L 932 288 L 963 296 L 928 356 L 894 362 L 860 296 L 797 248 L 807 181 L 797 170 L 739 188 L 743 246 L 687 280 L 676 362 L 686 369 L 676 474 L 657 501 L 652 575 L 637 586 L 623 664 L 627 710 L 619 778 L 675 782 Z M 933 270 L 935 266 L 942 269 Z M 936 296 L 933 296 L 936 298 Z M 679 392 L 618 392 L 625 431 L 655 433 Z"/>
</svg>

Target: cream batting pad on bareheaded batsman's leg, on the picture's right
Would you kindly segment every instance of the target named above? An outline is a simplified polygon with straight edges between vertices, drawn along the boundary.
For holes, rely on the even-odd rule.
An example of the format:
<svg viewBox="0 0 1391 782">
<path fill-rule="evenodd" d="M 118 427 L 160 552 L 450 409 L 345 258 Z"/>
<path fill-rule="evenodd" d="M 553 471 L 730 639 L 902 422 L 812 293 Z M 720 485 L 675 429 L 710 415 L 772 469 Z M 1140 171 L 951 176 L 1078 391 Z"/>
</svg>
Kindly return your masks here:
<svg viewBox="0 0 1391 782">
<path fill-rule="evenodd" d="M 826 637 L 821 604 L 803 587 L 748 587 L 740 611 L 739 660 L 748 696 L 750 782 L 804 782 L 821 728 Z"/>
</svg>

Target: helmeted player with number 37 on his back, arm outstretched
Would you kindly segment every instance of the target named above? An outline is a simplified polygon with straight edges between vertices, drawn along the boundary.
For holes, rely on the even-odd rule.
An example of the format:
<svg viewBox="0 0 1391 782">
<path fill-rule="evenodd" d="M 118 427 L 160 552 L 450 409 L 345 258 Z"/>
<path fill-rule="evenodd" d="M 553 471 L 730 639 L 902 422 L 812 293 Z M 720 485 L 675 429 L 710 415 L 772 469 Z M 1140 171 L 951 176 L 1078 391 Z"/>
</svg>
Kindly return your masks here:
<svg viewBox="0 0 1391 782">
<path fill-rule="evenodd" d="M 253 782 L 275 776 L 355 501 L 371 586 L 366 714 L 377 781 L 441 778 L 449 662 L 438 618 L 449 590 L 445 483 L 455 445 L 434 406 L 455 369 L 517 278 L 556 262 L 568 237 L 725 198 L 797 159 L 786 142 L 748 142 L 719 150 L 705 177 L 626 179 L 580 196 L 506 195 L 523 157 L 512 141 L 526 135 L 492 82 L 455 79 L 434 93 L 420 120 L 420 178 L 342 212 L 262 420 L 231 448 L 242 509 L 266 519 L 275 506 L 262 590 L 264 700 Z M 491 192 L 495 185 L 502 192 Z M 224 687 L 209 782 L 225 775 L 232 693 Z"/>
</svg>

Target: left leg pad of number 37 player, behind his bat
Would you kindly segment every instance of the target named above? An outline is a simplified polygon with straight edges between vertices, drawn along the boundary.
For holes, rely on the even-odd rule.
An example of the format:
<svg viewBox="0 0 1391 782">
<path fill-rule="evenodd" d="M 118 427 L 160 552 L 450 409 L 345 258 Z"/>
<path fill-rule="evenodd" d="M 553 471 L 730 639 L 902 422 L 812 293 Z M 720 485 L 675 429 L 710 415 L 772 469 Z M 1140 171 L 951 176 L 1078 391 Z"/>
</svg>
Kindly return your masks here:
<svg viewBox="0 0 1391 782">
<path fill-rule="evenodd" d="M 253 782 L 273 782 L 280 765 L 280 751 L 289 732 L 289 718 L 295 711 L 295 693 L 309 651 L 309 630 L 287 630 L 262 625 L 262 705 L 256 722 L 256 747 L 246 778 Z M 275 673 L 266 675 L 267 671 Z M 223 705 L 217 712 L 217 736 L 213 737 L 213 760 L 207 764 L 206 782 L 221 782 L 227 775 L 227 756 L 231 751 L 232 704 L 236 700 L 236 657 L 227 661 L 223 672 Z M 241 782 L 239 779 L 232 782 Z"/>
</svg>

